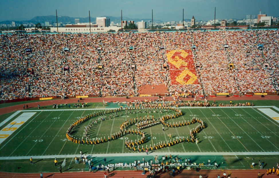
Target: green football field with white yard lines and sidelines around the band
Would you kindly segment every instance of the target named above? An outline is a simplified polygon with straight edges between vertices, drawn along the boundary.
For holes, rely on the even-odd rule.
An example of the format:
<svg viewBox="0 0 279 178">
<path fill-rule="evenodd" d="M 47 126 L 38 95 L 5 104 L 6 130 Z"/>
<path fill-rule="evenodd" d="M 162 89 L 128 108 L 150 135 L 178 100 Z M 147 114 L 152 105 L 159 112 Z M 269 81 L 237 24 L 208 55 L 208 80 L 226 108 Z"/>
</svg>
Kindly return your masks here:
<svg viewBox="0 0 279 178">
<path fill-rule="evenodd" d="M 7 166 L 5 163 L 8 164 L 9 160 L 22 159 L 26 161 L 30 157 L 38 156 L 46 158 L 46 160 L 53 160 L 53 158 L 59 157 L 62 161 L 64 160 L 62 159 L 63 157 L 67 157 L 68 164 L 74 165 L 72 158 L 79 155 L 80 151 L 92 156 L 95 154 L 121 156 L 117 155 L 119 153 L 126 153 L 123 156 L 128 157 L 131 157 L 133 154 L 135 156 L 140 154 L 146 156 L 146 153 L 138 153 L 137 150 L 134 152 L 125 147 L 125 141 L 135 141 L 140 139 L 140 135 L 127 134 L 113 141 L 97 145 L 75 144 L 67 140 L 66 131 L 80 117 L 93 114 L 94 112 L 114 110 L 114 108 L 119 107 L 113 103 L 109 103 L 108 106 L 103 106 L 103 103 L 90 103 L 88 105 L 88 108 L 65 108 L 63 106 L 58 109 L 47 106 L 40 110 L 30 108 L 23 112 L 15 113 L 9 122 L 1 126 L 1 130 L 9 130 L 12 127 L 9 123 L 21 116 L 21 114 L 31 113 L 32 116 L 1 143 L 1 171 L 8 169 L 5 168 Z M 123 108 L 126 106 L 124 104 L 120 105 Z M 226 167 L 240 169 L 249 167 L 251 160 L 245 160 L 247 157 L 265 157 L 264 155 L 270 157 L 274 155 L 272 162 L 279 161 L 279 123 L 276 122 L 276 115 L 274 116 L 275 119 L 268 116 L 270 115 L 268 112 L 278 114 L 279 110 L 277 107 L 257 105 L 255 107 L 181 107 L 179 109 L 182 110 L 182 116 L 168 120 L 168 123 L 190 121 L 194 116 L 203 120 L 205 128 L 196 135 L 199 143 L 178 143 L 171 147 L 156 150 L 154 152 L 156 155 L 172 154 L 184 159 L 185 157 L 199 155 L 201 158 L 204 157 L 204 160 L 202 159 L 203 162 L 206 162 L 206 159 L 209 157 L 222 157 L 219 160 L 227 160 Z M 118 112 L 117 117 L 112 119 L 98 120 L 97 124 L 94 124 L 93 128 L 88 132 L 90 138 L 98 140 L 101 137 L 103 139 L 104 137 L 107 138 L 108 135 L 118 132 L 120 124 L 125 122 L 125 120 L 136 117 L 143 118 L 144 116 L 154 116 L 157 119 L 163 115 L 175 112 L 173 110 L 163 110 L 160 113 L 158 110 L 154 112 L 154 109 L 152 109 L 148 113 L 142 113 L 140 110 L 131 110 L 130 114 L 125 114 L 125 111 L 122 111 L 121 116 L 120 113 Z M 103 116 L 109 118 L 109 115 L 104 114 Z M 7 118 L 11 114 L 2 116 Z M 3 117 L 1 120 L 5 119 Z M 75 127 L 74 137 L 81 138 L 85 126 L 88 126 L 93 120 L 98 118 L 99 116 L 91 118 Z M 146 136 L 146 142 L 143 144 L 143 147 L 170 141 L 170 137 L 172 140 L 184 137 L 186 141 L 186 137 L 190 136 L 190 129 L 195 128 L 197 125 L 198 123 L 176 128 L 165 127 L 165 131 L 162 130 L 161 124 L 145 128 L 142 130 Z M 135 130 L 136 126 L 133 124 L 127 128 Z M 140 145 L 141 147 L 142 145 Z M 131 161 L 133 159 L 131 158 Z"/>
</svg>

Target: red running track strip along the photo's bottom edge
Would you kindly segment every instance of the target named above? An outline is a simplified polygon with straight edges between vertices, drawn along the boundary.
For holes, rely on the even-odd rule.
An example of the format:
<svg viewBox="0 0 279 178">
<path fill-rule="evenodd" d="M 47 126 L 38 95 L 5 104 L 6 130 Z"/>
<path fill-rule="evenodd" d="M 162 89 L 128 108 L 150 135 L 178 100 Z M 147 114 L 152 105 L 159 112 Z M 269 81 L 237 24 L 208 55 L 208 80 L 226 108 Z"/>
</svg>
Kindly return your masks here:
<svg viewBox="0 0 279 178">
<path fill-rule="evenodd" d="M 276 178 L 279 177 L 277 174 L 270 174 L 266 175 L 266 171 L 264 169 L 249 169 L 249 170 L 200 170 L 200 172 L 196 172 L 195 170 L 183 170 L 181 173 L 175 175 L 177 178 L 199 178 L 202 175 L 203 178 L 216 178 L 217 175 L 220 175 L 223 178 L 223 173 L 226 172 L 227 176 L 229 175 L 231 178 L 256 178 L 258 177 L 258 173 L 262 177 L 268 178 Z M 142 171 L 112 171 L 107 173 L 107 178 L 146 178 L 149 172 L 145 175 L 141 174 Z M 167 178 L 170 172 L 167 173 L 159 173 L 156 177 L 157 178 Z M 0 178 L 38 178 L 40 177 L 40 173 L 6 173 L 0 172 Z M 104 172 L 98 171 L 96 173 L 89 173 L 89 172 L 64 172 L 64 173 L 43 173 L 44 178 L 103 178 Z"/>
</svg>

